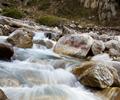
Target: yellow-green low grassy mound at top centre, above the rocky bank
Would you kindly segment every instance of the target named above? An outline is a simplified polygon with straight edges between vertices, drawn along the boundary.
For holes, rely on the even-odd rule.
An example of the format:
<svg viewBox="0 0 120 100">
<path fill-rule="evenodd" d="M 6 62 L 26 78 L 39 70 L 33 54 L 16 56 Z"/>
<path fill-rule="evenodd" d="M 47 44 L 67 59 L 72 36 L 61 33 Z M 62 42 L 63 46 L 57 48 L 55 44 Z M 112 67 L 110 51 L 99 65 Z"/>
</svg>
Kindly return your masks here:
<svg viewBox="0 0 120 100">
<path fill-rule="evenodd" d="M 65 23 L 67 20 L 65 18 L 57 17 L 57 16 L 41 16 L 39 17 L 36 22 L 46 26 L 59 26 Z"/>
</svg>

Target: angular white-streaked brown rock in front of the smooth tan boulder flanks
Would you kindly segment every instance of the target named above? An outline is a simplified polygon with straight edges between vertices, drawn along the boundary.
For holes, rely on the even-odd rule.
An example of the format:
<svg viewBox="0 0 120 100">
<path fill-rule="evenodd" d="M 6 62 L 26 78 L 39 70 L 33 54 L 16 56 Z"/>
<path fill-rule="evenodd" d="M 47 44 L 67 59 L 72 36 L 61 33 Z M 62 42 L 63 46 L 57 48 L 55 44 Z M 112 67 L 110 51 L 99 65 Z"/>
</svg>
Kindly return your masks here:
<svg viewBox="0 0 120 100">
<path fill-rule="evenodd" d="M 113 84 L 113 76 L 107 68 L 91 67 L 81 76 L 80 82 L 85 86 L 106 88 Z"/>
</svg>

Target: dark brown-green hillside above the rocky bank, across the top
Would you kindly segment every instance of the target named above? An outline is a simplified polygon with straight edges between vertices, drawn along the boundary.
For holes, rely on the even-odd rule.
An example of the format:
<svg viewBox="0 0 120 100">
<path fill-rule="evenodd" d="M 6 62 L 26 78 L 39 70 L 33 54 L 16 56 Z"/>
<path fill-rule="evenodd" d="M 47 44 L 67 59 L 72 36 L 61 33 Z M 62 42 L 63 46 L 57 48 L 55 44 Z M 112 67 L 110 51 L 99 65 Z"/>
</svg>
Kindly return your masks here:
<svg viewBox="0 0 120 100">
<path fill-rule="evenodd" d="M 37 20 L 50 15 L 82 25 L 120 26 L 119 0 L 1 0 L 0 8 L 3 15 L 10 17 Z"/>
</svg>

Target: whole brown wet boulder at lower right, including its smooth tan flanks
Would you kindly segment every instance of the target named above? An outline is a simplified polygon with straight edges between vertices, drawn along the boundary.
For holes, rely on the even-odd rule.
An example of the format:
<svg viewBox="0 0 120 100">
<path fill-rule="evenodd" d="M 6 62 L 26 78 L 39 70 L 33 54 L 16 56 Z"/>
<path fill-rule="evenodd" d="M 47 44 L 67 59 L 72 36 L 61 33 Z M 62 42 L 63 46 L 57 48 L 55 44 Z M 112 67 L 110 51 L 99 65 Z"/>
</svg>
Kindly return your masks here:
<svg viewBox="0 0 120 100">
<path fill-rule="evenodd" d="M 86 62 L 75 68 L 73 73 L 85 86 L 93 88 L 120 86 L 117 70 L 104 62 Z"/>
</svg>

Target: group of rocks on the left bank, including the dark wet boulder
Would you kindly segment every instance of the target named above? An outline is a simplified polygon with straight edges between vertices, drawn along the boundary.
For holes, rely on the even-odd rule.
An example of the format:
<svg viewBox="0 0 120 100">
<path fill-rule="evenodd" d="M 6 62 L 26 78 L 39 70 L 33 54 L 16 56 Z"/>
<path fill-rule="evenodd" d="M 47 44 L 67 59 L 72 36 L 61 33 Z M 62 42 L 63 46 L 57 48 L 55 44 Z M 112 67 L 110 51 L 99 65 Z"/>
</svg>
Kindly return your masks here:
<svg viewBox="0 0 120 100">
<path fill-rule="evenodd" d="M 32 25 L 31 25 L 32 23 Z M 33 41 L 36 31 L 45 31 L 45 36 L 49 39 L 55 39 L 57 36 L 53 33 L 57 29 L 49 29 L 38 26 L 34 22 L 25 22 L 17 19 L 0 16 L 0 59 L 11 60 L 14 55 L 13 47 L 31 48 L 33 43 L 52 48 L 53 43 L 49 40 Z M 52 32 L 52 31 L 54 32 Z M 58 32 L 59 33 L 59 32 Z"/>
</svg>

